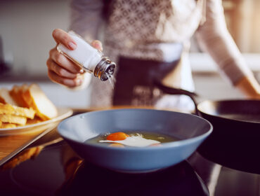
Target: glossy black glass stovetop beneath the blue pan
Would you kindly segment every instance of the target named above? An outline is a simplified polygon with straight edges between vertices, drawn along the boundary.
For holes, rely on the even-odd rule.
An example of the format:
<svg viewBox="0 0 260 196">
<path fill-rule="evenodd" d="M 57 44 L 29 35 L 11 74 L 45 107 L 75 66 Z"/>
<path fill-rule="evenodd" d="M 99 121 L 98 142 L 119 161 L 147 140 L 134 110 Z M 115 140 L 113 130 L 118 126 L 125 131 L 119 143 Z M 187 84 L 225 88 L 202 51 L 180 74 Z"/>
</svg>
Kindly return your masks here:
<svg viewBox="0 0 260 196">
<path fill-rule="evenodd" d="M 167 169 L 123 174 L 91 165 L 60 141 L 36 158 L 1 171 L 0 195 L 260 196 L 259 170 L 249 164 L 240 169 L 240 162 L 229 160 L 201 151 Z"/>
</svg>

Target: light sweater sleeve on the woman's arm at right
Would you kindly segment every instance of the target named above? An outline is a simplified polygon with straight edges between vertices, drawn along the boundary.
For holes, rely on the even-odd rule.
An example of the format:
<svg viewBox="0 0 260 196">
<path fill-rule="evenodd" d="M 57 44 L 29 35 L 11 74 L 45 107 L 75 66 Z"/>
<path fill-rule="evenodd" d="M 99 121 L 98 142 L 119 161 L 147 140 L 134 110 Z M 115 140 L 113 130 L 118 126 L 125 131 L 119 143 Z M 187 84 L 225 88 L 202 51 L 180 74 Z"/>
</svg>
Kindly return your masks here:
<svg viewBox="0 0 260 196">
<path fill-rule="evenodd" d="M 197 40 L 204 52 L 214 59 L 219 70 L 233 85 L 252 75 L 226 27 L 221 0 L 206 1 L 206 21 L 197 29 Z"/>
</svg>

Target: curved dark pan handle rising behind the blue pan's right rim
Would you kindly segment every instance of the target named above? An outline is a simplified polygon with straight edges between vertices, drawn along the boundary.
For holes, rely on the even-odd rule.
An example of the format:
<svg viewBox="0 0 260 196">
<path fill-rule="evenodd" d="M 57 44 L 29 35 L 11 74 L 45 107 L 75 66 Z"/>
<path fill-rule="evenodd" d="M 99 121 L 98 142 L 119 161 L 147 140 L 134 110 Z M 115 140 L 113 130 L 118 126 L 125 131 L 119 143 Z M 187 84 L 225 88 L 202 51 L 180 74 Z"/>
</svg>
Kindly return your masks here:
<svg viewBox="0 0 260 196">
<path fill-rule="evenodd" d="M 200 111 L 197 109 L 197 104 L 199 104 L 199 100 L 201 99 L 199 95 L 197 95 L 195 92 L 190 92 L 188 90 L 183 90 L 181 88 L 175 88 L 175 87 L 168 87 L 166 85 L 163 85 L 159 81 L 155 80 L 154 84 L 156 87 L 158 87 L 162 92 L 166 94 L 180 94 L 180 95 L 187 95 L 190 97 L 191 100 L 193 100 L 193 103 L 195 105 L 195 113 L 197 116 L 200 116 Z"/>
</svg>

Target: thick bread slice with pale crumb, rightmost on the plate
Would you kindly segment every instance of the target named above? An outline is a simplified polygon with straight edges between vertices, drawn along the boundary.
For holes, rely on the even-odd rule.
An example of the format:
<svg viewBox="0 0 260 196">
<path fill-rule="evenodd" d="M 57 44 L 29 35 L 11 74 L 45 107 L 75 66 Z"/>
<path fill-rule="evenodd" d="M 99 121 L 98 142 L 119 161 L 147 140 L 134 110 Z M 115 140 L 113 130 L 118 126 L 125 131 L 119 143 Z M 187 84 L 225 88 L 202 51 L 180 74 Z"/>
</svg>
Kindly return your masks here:
<svg viewBox="0 0 260 196">
<path fill-rule="evenodd" d="M 36 111 L 36 115 L 41 120 L 49 120 L 57 116 L 56 106 L 46 97 L 39 85 L 30 85 L 22 94 L 22 97 Z"/>
</svg>

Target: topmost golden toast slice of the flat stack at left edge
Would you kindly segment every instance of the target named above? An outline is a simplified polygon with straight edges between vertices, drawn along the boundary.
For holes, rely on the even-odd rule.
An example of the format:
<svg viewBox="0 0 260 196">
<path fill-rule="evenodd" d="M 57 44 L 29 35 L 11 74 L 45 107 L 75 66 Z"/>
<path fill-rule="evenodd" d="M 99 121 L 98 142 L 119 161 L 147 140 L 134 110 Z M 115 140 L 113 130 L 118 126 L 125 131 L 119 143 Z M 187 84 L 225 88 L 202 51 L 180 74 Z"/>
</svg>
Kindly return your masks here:
<svg viewBox="0 0 260 196">
<path fill-rule="evenodd" d="M 33 119 L 35 111 L 32 108 L 27 109 L 18 106 L 12 106 L 11 104 L 0 103 L 0 114 L 12 114 L 15 116 L 24 116 Z"/>
</svg>

